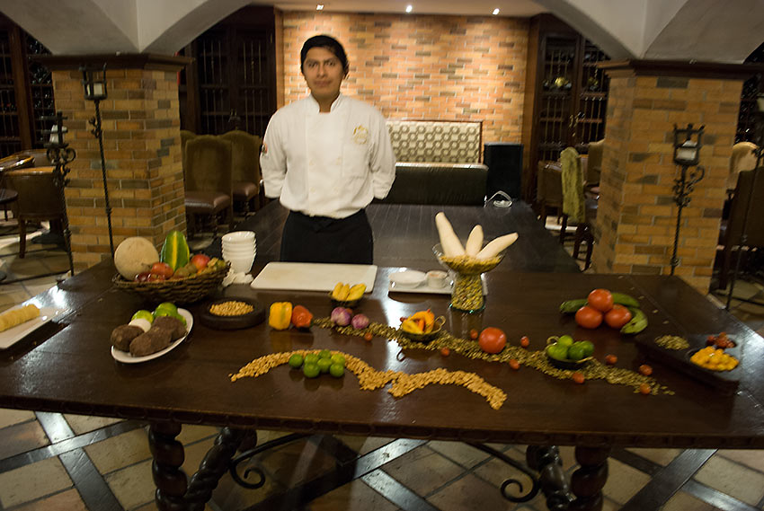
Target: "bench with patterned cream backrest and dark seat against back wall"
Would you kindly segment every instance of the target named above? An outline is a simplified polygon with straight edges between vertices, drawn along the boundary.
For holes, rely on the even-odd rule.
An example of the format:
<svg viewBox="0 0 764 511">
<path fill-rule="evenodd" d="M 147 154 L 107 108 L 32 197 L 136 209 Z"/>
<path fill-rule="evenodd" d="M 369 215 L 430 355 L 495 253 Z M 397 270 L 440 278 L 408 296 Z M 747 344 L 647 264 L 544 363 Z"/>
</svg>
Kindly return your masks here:
<svg viewBox="0 0 764 511">
<path fill-rule="evenodd" d="M 382 202 L 483 205 L 482 121 L 390 119 L 387 128 L 397 163 Z"/>
</svg>

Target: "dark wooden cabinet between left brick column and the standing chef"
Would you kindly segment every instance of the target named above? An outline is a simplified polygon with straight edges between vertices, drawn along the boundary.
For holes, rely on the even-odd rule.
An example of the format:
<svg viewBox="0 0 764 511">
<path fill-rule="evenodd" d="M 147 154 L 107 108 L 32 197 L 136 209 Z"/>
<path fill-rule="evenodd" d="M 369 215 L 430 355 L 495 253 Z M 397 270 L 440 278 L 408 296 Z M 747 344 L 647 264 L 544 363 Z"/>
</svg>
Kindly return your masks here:
<svg viewBox="0 0 764 511">
<path fill-rule="evenodd" d="M 275 12 L 248 6 L 184 48 L 195 62 L 181 75 L 182 128 L 218 135 L 232 127 L 262 135 L 276 111 Z"/>
</svg>

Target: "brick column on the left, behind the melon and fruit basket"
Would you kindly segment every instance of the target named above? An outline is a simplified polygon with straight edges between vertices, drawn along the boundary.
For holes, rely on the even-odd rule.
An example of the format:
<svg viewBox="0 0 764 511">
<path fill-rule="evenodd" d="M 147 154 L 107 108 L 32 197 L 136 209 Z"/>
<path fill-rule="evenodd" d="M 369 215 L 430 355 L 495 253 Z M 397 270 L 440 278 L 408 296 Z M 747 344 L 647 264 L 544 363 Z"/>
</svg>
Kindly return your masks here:
<svg viewBox="0 0 764 511">
<path fill-rule="evenodd" d="M 43 59 L 41 59 L 43 60 Z M 83 64 L 107 64 L 101 101 L 103 149 L 114 247 L 143 236 L 158 247 L 171 229 L 185 231 L 177 71 L 189 59 L 155 55 L 51 56 L 56 110 L 68 118 L 67 141 L 77 158 L 66 189 L 76 270 L 111 257 L 98 140 L 88 119 Z"/>
</svg>

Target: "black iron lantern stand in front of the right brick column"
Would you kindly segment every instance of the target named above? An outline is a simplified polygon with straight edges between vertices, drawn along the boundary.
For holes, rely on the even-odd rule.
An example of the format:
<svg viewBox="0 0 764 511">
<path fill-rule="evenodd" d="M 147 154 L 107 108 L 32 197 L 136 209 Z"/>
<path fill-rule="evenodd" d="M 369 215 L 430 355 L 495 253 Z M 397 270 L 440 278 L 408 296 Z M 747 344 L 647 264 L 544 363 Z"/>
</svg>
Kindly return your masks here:
<svg viewBox="0 0 764 511">
<path fill-rule="evenodd" d="M 689 205 L 689 194 L 695 188 L 698 181 L 703 179 L 706 169 L 697 166 L 700 159 L 700 147 L 703 146 L 703 130 L 705 126 L 698 129 L 692 128 L 691 124 L 687 128 L 677 128 L 674 125 L 674 163 L 680 165 L 680 177 L 674 180 L 674 203 L 679 207 L 677 211 L 677 229 L 674 232 L 674 251 L 671 255 L 671 275 L 680 263 L 677 257 L 677 248 L 680 242 L 680 227 L 682 209 Z M 689 172 L 688 168 L 693 167 Z"/>
</svg>

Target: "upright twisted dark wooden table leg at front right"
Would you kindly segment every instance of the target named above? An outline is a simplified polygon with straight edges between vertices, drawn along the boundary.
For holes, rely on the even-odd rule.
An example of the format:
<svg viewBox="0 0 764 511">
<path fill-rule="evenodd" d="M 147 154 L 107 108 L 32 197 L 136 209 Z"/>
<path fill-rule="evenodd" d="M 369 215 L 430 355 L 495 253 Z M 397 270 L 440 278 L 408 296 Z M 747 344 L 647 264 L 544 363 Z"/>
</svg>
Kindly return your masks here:
<svg viewBox="0 0 764 511">
<path fill-rule="evenodd" d="M 581 465 L 573 472 L 571 489 L 575 500 L 572 511 L 600 511 L 602 488 L 608 481 L 609 447 L 576 447 L 575 459 Z"/>
</svg>

